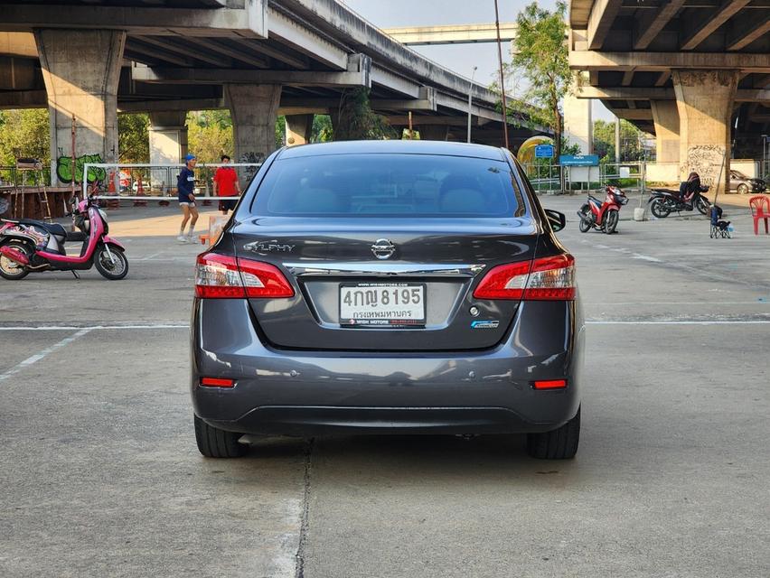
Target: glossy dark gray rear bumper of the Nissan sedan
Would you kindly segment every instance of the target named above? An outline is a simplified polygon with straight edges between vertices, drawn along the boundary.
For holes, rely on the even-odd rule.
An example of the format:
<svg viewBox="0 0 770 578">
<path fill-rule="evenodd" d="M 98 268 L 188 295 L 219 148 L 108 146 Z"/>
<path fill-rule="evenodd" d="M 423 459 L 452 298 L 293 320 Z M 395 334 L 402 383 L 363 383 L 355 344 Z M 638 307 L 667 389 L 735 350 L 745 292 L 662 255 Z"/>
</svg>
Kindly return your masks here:
<svg viewBox="0 0 770 578">
<path fill-rule="evenodd" d="M 192 402 L 205 422 L 240 433 L 543 432 L 577 413 L 583 339 L 577 302 L 530 302 L 493 350 L 274 350 L 260 340 L 246 301 L 196 300 Z M 236 384 L 201 387 L 202 377 Z M 568 387 L 531 385 L 559 378 Z"/>
</svg>

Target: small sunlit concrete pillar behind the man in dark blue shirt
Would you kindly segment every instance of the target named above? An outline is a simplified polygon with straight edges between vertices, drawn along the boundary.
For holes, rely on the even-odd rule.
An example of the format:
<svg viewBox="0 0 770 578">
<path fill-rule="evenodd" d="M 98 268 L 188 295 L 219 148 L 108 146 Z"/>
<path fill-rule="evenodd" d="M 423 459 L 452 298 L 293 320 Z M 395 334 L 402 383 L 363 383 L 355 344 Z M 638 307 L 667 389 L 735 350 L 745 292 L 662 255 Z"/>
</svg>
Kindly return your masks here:
<svg viewBox="0 0 770 578">
<path fill-rule="evenodd" d="M 150 163 L 181 163 L 187 154 L 187 112 L 167 110 L 150 113 Z M 219 159 L 216 159 L 219 161 Z M 165 191 L 176 186 L 178 171 L 155 170 L 150 182 Z"/>
</svg>

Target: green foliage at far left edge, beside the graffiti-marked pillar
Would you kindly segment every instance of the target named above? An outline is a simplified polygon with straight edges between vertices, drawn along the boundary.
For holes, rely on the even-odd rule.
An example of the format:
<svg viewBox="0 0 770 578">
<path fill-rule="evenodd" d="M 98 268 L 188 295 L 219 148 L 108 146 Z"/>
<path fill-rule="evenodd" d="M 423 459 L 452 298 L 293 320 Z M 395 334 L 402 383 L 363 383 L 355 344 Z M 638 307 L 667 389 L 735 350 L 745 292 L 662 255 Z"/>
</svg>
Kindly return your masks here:
<svg viewBox="0 0 770 578">
<path fill-rule="evenodd" d="M 16 156 L 51 163 L 48 108 L 0 110 L 0 164 L 14 164 Z"/>
</svg>

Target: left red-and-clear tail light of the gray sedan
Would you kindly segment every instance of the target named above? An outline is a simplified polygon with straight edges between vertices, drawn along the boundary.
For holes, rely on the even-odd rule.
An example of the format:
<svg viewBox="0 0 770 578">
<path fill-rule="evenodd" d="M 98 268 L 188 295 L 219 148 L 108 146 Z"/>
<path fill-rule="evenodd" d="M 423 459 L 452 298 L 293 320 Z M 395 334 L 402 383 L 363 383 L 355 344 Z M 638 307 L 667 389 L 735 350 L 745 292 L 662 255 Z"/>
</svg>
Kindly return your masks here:
<svg viewBox="0 0 770 578">
<path fill-rule="evenodd" d="M 203 253 L 195 266 L 195 296 L 206 299 L 293 297 L 276 266 L 234 256 Z"/>
</svg>

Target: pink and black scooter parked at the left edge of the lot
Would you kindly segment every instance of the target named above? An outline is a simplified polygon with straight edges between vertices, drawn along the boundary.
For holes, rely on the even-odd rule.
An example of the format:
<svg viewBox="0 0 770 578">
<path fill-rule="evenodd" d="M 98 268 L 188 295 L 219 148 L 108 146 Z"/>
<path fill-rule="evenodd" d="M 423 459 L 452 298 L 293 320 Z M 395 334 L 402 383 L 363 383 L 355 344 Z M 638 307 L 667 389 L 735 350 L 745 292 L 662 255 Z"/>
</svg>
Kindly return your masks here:
<svg viewBox="0 0 770 578">
<path fill-rule="evenodd" d="M 67 232 L 58 223 L 33 219 L 0 219 L 0 276 L 22 279 L 33 271 L 84 271 L 96 266 L 108 279 L 122 279 L 128 273 L 123 247 L 108 236 L 107 215 L 97 201 L 72 201 L 72 222 L 80 232 Z M 77 206 L 75 206 L 77 205 Z M 80 256 L 68 256 L 66 241 L 82 242 Z"/>
</svg>

